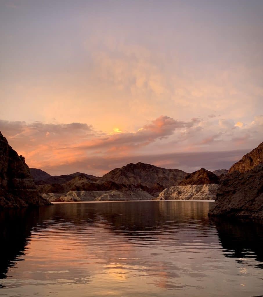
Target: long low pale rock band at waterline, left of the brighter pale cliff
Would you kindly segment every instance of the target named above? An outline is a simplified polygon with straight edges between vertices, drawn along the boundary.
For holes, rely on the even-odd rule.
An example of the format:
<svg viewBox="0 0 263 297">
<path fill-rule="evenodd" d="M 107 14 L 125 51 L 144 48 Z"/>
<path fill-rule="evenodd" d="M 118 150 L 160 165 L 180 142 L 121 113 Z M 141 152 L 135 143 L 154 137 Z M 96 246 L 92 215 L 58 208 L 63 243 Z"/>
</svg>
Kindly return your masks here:
<svg viewBox="0 0 263 297">
<path fill-rule="evenodd" d="M 72 201 L 127 201 L 152 200 L 153 197 L 141 190 L 113 190 L 113 191 L 70 191 L 67 193 L 47 193 L 42 197 L 51 202 Z"/>
</svg>

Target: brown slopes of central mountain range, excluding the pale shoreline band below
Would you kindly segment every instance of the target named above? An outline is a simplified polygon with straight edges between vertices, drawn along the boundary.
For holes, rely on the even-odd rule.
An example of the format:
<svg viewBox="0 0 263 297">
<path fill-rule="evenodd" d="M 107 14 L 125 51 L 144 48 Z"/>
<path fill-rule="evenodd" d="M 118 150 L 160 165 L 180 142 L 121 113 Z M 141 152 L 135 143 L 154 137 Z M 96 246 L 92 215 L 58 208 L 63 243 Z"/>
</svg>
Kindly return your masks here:
<svg viewBox="0 0 263 297">
<path fill-rule="evenodd" d="M 48 173 L 31 168 L 37 188 L 41 194 L 63 194 L 72 191 L 136 191 L 146 192 L 146 196 L 158 197 L 166 187 L 177 185 L 186 175 L 182 170 L 158 168 L 137 163 L 115 168 L 103 177 L 84 173 L 50 176 Z M 127 192 L 128 193 L 128 192 Z M 130 193 L 130 192 L 129 192 Z M 128 198 L 128 197 L 127 197 Z"/>
</svg>

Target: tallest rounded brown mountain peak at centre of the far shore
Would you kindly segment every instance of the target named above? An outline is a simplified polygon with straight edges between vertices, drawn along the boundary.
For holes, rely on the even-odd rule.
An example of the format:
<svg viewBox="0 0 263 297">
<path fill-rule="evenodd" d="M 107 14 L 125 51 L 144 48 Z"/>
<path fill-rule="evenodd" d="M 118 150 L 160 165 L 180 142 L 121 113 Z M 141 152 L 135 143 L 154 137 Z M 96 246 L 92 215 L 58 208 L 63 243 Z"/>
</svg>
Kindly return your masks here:
<svg viewBox="0 0 263 297">
<path fill-rule="evenodd" d="M 122 168 L 115 168 L 106 173 L 101 179 L 114 181 L 116 184 L 142 185 L 153 187 L 160 184 L 163 187 L 178 185 L 187 175 L 182 170 L 159 168 L 144 163 L 130 163 Z"/>
</svg>

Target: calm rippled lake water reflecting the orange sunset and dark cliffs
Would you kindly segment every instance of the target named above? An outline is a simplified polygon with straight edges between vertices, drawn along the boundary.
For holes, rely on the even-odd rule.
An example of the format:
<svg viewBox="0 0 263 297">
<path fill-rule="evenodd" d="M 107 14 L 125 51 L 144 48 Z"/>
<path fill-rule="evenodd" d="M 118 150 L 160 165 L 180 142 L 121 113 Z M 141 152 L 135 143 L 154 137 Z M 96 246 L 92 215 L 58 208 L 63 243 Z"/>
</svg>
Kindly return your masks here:
<svg viewBox="0 0 263 297">
<path fill-rule="evenodd" d="M 262 225 L 213 202 L 61 203 L 0 212 L 1 296 L 263 294 Z"/>
</svg>

